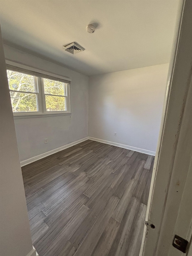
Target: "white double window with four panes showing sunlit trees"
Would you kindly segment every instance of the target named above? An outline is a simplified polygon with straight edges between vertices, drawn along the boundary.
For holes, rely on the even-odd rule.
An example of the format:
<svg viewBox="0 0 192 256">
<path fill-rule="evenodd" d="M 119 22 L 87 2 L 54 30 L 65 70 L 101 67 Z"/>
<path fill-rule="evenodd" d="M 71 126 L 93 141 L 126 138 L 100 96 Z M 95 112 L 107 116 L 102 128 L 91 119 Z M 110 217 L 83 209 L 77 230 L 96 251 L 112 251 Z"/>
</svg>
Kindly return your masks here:
<svg viewBox="0 0 192 256">
<path fill-rule="evenodd" d="M 31 73 L 7 69 L 14 116 L 70 113 L 70 82 Z"/>
</svg>

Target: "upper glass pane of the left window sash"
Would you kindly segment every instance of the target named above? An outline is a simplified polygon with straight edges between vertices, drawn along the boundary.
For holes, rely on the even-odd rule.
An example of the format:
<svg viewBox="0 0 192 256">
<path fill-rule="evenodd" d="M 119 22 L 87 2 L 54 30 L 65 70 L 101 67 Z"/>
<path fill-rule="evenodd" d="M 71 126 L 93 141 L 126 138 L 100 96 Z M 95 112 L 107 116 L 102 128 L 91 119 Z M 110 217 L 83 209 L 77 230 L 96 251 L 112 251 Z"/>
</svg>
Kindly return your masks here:
<svg viewBox="0 0 192 256">
<path fill-rule="evenodd" d="M 7 70 L 10 90 L 35 92 L 34 76 Z"/>
</svg>

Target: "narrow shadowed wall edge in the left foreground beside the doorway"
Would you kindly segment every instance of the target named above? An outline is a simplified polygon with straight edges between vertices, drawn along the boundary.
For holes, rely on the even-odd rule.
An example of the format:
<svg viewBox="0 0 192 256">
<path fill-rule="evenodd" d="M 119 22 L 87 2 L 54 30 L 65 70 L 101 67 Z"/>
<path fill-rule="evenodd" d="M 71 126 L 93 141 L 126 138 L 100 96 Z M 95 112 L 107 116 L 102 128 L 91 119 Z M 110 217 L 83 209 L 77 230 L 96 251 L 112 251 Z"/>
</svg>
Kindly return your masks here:
<svg viewBox="0 0 192 256">
<path fill-rule="evenodd" d="M 32 254 L 32 240 L 0 31 L 0 255 Z M 34 251 L 35 253 L 35 251 Z"/>
</svg>

